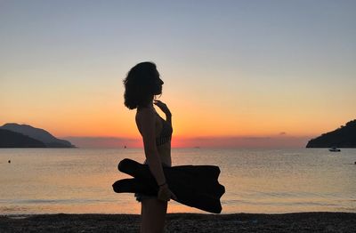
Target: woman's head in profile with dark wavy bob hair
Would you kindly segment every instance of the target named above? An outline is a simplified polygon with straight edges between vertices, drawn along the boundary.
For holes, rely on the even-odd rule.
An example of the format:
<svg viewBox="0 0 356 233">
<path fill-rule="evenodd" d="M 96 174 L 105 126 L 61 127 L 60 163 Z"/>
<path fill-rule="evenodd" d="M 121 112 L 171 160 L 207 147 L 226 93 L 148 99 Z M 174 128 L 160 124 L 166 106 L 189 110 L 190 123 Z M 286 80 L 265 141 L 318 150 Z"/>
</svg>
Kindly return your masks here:
<svg viewBox="0 0 356 233">
<path fill-rule="evenodd" d="M 130 109 L 148 106 L 155 95 L 162 93 L 162 84 L 153 62 L 135 65 L 124 79 L 125 106 Z"/>
</svg>

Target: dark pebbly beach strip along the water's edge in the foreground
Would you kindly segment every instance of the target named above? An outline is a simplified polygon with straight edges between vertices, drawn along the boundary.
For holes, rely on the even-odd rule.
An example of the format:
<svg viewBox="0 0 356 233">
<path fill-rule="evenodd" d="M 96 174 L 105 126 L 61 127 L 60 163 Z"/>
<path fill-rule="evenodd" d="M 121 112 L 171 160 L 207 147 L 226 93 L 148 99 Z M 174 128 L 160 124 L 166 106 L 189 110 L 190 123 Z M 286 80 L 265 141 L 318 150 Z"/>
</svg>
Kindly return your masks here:
<svg viewBox="0 0 356 233">
<path fill-rule="evenodd" d="M 354 232 L 356 213 L 168 213 L 165 232 Z M 139 232 L 137 214 L 2 215 L 0 232 Z"/>
</svg>

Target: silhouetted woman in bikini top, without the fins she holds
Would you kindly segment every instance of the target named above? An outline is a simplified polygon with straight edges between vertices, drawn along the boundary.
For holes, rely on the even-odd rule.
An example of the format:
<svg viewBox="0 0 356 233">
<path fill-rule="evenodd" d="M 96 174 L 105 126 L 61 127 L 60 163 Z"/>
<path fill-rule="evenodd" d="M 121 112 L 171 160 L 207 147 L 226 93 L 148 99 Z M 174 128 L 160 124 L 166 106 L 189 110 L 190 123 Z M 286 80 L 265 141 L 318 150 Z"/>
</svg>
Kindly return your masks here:
<svg viewBox="0 0 356 233">
<path fill-rule="evenodd" d="M 166 183 L 162 165 L 171 166 L 172 114 L 162 101 L 155 100 L 162 93 L 163 81 L 159 78 L 156 65 L 142 62 L 131 68 L 125 80 L 125 106 L 137 109 L 135 121 L 142 135 L 146 156 L 145 164 L 155 177 L 159 190 L 158 196 L 136 194 L 141 202 L 141 232 L 163 232 L 166 220 L 167 202 L 174 193 Z M 166 120 L 158 115 L 156 105 L 166 115 Z"/>
</svg>

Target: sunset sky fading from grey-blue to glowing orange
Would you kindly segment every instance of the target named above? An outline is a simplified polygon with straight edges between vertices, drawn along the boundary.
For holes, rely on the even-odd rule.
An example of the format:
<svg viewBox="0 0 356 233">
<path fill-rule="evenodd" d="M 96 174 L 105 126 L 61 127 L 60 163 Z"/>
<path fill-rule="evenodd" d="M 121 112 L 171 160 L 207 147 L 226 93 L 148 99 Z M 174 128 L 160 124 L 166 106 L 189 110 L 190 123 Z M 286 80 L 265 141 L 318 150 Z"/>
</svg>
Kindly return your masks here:
<svg viewBox="0 0 356 233">
<path fill-rule="evenodd" d="M 0 125 L 142 146 L 122 80 L 153 61 L 174 147 L 304 147 L 356 118 L 356 1 L 0 0 Z"/>
</svg>

